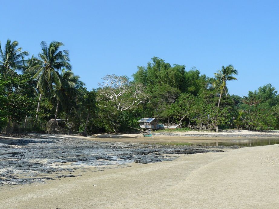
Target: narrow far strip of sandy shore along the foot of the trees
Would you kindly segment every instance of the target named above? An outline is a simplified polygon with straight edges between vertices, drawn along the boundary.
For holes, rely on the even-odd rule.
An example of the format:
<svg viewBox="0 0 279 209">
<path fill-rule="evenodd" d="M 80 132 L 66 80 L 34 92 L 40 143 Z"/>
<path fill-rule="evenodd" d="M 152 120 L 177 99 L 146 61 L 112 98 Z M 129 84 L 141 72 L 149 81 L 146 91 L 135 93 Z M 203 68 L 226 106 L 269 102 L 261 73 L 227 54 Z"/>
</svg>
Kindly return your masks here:
<svg viewBox="0 0 279 209">
<path fill-rule="evenodd" d="M 205 132 L 205 131 L 188 131 L 188 132 L 155 132 L 152 137 L 144 137 L 142 133 L 136 134 L 95 134 L 92 136 L 77 136 L 67 134 L 39 134 L 39 133 L 18 133 L 1 135 L 0 141 L 9 139 L 17 140 L 22 138 L 68 138 L 89 140 L 95 142 L 125 142 L 125 143 L 143 143 L 143 144 L 166 144 L 166 143 L 213 143 L 228 142 L 231 140 L 259 140 L 259 139 L 279 139 L 279 131 L 254 132 L 247 130 L 231 130 L 221 132 Z"/>
</svg>

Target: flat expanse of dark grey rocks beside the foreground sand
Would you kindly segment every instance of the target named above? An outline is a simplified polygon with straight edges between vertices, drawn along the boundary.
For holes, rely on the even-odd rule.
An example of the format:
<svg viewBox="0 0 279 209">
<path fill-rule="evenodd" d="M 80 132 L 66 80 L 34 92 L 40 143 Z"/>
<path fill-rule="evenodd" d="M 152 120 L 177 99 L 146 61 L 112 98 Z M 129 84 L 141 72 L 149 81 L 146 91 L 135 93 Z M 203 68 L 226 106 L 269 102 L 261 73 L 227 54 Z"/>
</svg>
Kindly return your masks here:
<svg viewBox="0 0 279 209">
<path fill-rule="evenodd" d="M 204 147 L 203 147 L 204 148 Z M 123 165 L 169 161 L 180 154 L 222 152 L 190 146 L 95 142 L 57 136 L 8 139 L 0 142 L 0 185 L 53 179 L 57 172 L 73 172 L 80 165 Z M 174 155 L 174 156 L 169 156 Z M 60 174 L 56 178 L 74 177 Z"/>
</svg>

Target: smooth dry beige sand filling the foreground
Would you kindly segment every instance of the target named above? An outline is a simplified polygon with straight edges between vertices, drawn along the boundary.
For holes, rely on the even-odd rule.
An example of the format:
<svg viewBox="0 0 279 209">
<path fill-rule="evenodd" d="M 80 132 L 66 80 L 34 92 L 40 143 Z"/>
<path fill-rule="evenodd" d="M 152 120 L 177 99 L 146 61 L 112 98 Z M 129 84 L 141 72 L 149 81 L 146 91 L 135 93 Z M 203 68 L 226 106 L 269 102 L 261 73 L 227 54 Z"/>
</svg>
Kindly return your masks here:
<svg viewBox="0 0 279 209">
<path fill-rule="evenodd" d="M 278 208 L 279 145 L 2 186 L 1 208 Z"/>
</svg>

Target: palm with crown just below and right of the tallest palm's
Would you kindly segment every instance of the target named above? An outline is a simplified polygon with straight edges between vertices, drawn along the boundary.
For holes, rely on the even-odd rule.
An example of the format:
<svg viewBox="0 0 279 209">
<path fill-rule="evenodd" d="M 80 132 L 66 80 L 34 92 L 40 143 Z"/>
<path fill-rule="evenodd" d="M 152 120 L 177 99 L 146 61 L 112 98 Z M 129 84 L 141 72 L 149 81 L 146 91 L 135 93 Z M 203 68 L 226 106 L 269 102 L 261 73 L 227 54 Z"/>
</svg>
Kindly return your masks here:
<svg viewBox="0 0 279 209">
<path fill-rule="evenodd" d="M 67 102 L 80 94 L 80 88 L 84 86 L 84 83 L 79 78 L 71 70 L 62 69 L 60 75 L 61 85 L 54 84 L 53 98 L 57 102 L 54 122 L 57 119 L 59 104 L 67 108 Z"/>
</svg>

